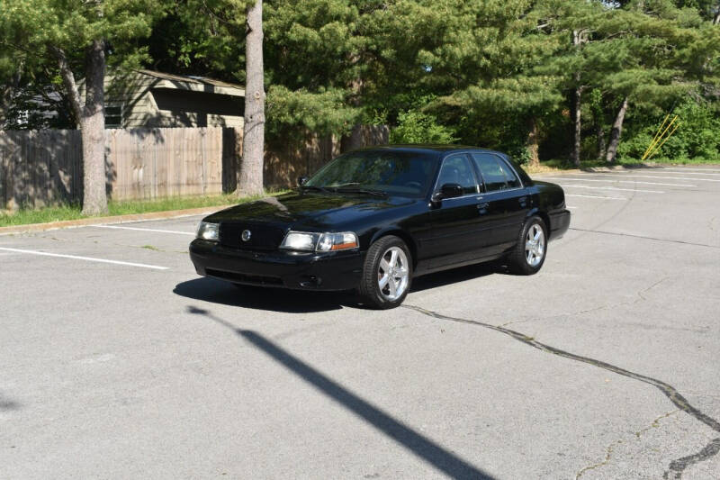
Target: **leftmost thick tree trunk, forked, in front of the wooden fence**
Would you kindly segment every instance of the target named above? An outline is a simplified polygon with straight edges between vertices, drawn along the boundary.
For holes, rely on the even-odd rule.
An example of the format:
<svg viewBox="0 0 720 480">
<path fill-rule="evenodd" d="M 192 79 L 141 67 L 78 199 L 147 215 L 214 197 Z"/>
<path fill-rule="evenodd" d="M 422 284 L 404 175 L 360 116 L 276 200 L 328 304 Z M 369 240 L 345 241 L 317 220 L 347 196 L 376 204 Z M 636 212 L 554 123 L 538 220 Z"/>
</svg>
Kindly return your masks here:
<svg viewBox="0 0 720 480">
<path fill-rule="evenodd" d="M 83 213 L 107 213 L 105 187 L 105 42 L 95 40 L 85 53 L 83 137 Z"/>
</svg>

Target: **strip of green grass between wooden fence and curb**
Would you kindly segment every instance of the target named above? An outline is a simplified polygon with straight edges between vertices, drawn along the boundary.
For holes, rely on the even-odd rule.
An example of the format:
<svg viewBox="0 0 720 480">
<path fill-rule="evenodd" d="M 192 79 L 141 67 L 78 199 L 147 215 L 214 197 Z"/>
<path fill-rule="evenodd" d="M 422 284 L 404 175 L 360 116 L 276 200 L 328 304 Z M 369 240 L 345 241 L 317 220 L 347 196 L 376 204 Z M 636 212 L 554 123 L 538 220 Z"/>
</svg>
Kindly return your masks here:
<svg viewBox="0 0 720 480">
<path fill-rule="evenodd" d="M 271 195 L 279 195 L 278 192 Z M 192 197 L 170 197 L 157 200 L 132 200 L 108 204 L 107 216 L 130 215 L 136 213 L 168 212 L 208 206 L 244 204 L 257 197 L 238 198 L 237 195 L 212 195 Z M 105 216 L 105 215 L 103 215 Z M 61 222 L 89 218 L 83 215 L 80 205 L 59 205 L 39 209 L 20 209 L 13 213 L 0 212 L 0 227 L 27 225 L 29 223 Z"/>
</svg>

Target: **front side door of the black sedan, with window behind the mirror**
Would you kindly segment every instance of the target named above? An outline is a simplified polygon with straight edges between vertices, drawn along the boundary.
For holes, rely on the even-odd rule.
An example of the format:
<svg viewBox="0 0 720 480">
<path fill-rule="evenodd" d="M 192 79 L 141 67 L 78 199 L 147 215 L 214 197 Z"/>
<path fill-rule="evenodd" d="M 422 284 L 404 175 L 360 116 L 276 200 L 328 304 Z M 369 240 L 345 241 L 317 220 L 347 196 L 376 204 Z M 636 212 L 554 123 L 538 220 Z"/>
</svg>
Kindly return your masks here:
<svg viewBox="0 0 720 480">
<path fill-rule="evenodd" d="M 445 184 L 462 186 L 464 195 L 445 198 L 431 206 L 431 237 L 426 243 L 430 269 L 481 256 L 485 219 L 478 209 L 478 179 L 469 155 L 454 154 L 443 160 L 435 192 Z"/>
</svg>

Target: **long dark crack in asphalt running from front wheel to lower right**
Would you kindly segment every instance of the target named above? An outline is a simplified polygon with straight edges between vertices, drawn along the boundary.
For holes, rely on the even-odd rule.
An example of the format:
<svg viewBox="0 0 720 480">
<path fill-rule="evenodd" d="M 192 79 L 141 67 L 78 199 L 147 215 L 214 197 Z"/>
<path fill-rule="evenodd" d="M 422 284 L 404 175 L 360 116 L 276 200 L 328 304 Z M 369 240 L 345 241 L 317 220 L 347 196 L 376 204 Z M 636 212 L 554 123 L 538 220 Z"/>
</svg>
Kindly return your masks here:
<svg viewBox="0 0 720 480">
<path fill-rule="evenodd" d="M 631 372 L 630 370 L 626 370 L 625 368 L 616 367 L 615 365 L 609 364 L 607 362 L 603 362 L 602 360 L 596 360 L 595 358 L 582 357 L 581 355 L 576 355 L 574 353 L 570 353 L 570 352 L 562 350 L 562 349 L 556 349 L 550 345 L 541 343 L 532 337 L 528 337 L 527 335 L 520 333 L 519 331 L 506 329 L 505 327 L 493 325 L 491 323 L 485 323 L 485 322 L 480 322 L 480 321 L 476 321 L 476 320 L 468 320 L 468 319 L 463 319 L 463 318 L 458 318 L 458 317 L 451 317 L 448 315 L 444 315 L 442 313 L 433 312 L 431 310 L 424 309 L 417 305 L 410 305 L 407 303 L 403 304 L 401 306 L 403 308 L 414 310 L 416 312 L 422 313 L 431 318 L 436 318 L 438 320 L 447 320 L 450 322 L 466 323 L 469 325 L 483 327 L 483 328 L 486 328 L 486 329 L 489 329 L 492 331 L 499 331 L 500 333 L 504 333 L 505 335 L 508 335 L 509 337 L 511 337 L 514 340 L 521 341 L 522 343 L 525 343 L 526 345 L 533 347 L 534 349 L 542 350 L 546 353 L 551 353 L 551 354 L 557 355 L 559 357 L 570 358 L 571 360 L 575 360 L 575 361 L 578 361 L 581 363 L 586 363 L 593 367 L 603 368 L 610 372 L 616 373 L 617 375 L 632 378 L 639 382 L 643 382 L 644 384 L 653 385 L 658 390 L 660 390 L 662 392 L 662 394 L 664 394 L 666 397 L 668 397 L 668 399 L 671 401 L 671 403 L 673 403 L 676 407 L 678 407 L 678 409 L 680 409 L 682 412 L 686 412 L 690 416 L 694 417 L 697 421 L 700 421 L 700 422 L 706 424 L 712 430 L 715 430 L 716 432 L 720 433 L 720 421 L 716 421 L 716 419 L 710 417 L 709 415 L 707 415 L 707 413 L 702 412 L 697 407 L 691 405 L 688 402 L 688 400 L 684 396 L 682 396 L 680 394 L 680 392 L 678 392 L 678 390 L 674 386 L 667 384 L 667 383 L 663 382 L 662 380 L 658 380 L 651 376 L 644 376 L 641 374 L 637 374 L 635 372 Z M 699 462 L 705 461 L 711 457 L 714 457 L 718 451 L 720 451 L 720 437 L 710 440 L 710 443 L 708 443 L 698 453 L 689 455 L 687 457 L 681 457 L 681 458 L 678 458 L 677 460 L 671 461 L 670 466 L 668 466 L 668 469 L 665 471 L 665 473 L 662 475 L 662 477 L 665 479 L 681 478 L 682 473 L 686 468 L 688 468 L 691 465 L 697 464 Z"/>
</svg>

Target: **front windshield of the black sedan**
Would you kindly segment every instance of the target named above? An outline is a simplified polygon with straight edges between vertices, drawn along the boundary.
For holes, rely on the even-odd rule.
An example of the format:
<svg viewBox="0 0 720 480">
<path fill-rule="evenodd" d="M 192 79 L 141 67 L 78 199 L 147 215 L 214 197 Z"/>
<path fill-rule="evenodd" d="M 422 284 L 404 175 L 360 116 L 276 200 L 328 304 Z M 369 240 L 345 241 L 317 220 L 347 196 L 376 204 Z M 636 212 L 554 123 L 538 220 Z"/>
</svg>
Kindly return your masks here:
<svg viewBox="0 0 720 480">
<path fill-rule="evenodd" d="M 335 158 L 303 186 L 420 197 L 428 191 L 436 164 L 435 156 L 422 152 L 356 151 Z"/>
</svg>

